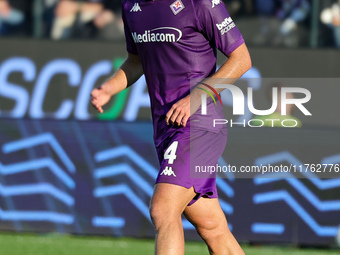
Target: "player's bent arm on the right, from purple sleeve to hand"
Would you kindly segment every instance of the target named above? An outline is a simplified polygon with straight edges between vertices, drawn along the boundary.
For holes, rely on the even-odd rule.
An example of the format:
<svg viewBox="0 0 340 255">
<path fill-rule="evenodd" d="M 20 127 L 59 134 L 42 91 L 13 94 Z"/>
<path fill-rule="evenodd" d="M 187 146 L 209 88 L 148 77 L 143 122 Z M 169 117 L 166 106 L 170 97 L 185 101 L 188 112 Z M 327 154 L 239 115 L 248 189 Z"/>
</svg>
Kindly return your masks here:
<svg viewBox="0 0 340 255">
<path fill-rule="evenodd" d="M 212 6 L 210 0 L 197 0 L 194 9 L 196 9 L 197 29 L 210 43 L 228 56 L 228 60 L 225 61 L 222 67 L 214 75 L 206 79 L 204 83 L 214 87 L 216 78 L 220 78 L 221 83 L 232 84 L 247 72 L 252 65 L 248 48 L 241 33 L 230 18 L 222 1 Z M 228 29 L 228 27 L 230 28 Z M 217 89 L 217 92 L 222 90 Z M 205 92 L 196 88 L 191 91 L 189 96 L 176 102 L 166 114 L 165 121 L 167 124 L 185 127 L 189 117 L 201 105 L 202 93 Z"/>
</svg>

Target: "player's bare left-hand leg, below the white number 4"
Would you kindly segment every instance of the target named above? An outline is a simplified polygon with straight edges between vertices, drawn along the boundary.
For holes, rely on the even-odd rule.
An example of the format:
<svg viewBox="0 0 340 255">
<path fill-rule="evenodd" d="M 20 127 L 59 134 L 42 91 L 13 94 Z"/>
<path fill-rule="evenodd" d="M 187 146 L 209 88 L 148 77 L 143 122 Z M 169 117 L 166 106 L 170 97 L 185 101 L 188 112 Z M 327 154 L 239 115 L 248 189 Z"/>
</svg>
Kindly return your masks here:
<svg viewBox="0 0 340 255">
<path fill-rule="evenodd" d="M 156 228 L 156 255 L 184 255 L 181 215 L 194 196 L 193 188 L 156 184 L 150 203 L 150 215 Z"/>
</svg>

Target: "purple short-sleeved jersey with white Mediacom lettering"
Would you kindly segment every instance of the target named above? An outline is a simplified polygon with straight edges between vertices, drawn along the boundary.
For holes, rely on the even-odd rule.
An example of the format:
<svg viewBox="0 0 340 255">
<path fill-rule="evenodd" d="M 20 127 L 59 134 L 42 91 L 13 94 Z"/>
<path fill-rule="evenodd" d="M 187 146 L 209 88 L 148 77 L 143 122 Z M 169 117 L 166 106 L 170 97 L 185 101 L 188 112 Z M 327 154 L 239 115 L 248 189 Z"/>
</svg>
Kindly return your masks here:
<svg viewBox="0 0 340 255">
<path fill-rule="evenodd" d="M 190 80 L 215 72 L 216 49 L 229 55 L 244 40 L 221 0 L 123 0 L 122 5 L 127 51 L 141 59 L 159 146 L 183 129 L 166 125 L 165 115 L 189 95 Z M 221 106 L 208 104 L 208 112 L 211 118 L 224 118 Z M 204 126 L 204 118 L 197 111 L 184 129 L 196 119 L 211 130 L 212 125 Z"/>
</svg>

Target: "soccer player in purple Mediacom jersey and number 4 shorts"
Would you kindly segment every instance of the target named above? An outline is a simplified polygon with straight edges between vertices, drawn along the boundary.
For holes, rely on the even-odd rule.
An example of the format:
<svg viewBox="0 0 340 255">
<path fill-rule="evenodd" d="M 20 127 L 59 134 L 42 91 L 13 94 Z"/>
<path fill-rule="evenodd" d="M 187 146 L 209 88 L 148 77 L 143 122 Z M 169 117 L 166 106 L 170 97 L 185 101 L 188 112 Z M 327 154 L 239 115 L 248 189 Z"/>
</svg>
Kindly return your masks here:
<svg viewBox="0 0 340 255">
<path fill-rule="evenodd" d="M 160 161 L 150 202 L 155 254 L 184 254 L 182 213 L 210 254 L 244 254 L 228 228 L 215 179 L 190 178 L 190 161 L 216 166 L 226 144 L 225 128 L 209 127 L 199 110 L 206 92 L 196 87 L 190 93 L 190 81 L 205 79 L 209 91 L 214 86 L 210 78 L 230 83 L 241 77 L 251 67 L 242 35 L 221 0 L 123 0 L 122 6 L 128 58 L 92 91 L 91 102 L 102 113 L 113 95 L 144 73 Z M 216 49 L 228 57 L 217 72 Z M 215 107 L 211 100 L 207 110 L 212 118 L 224 117 L 221 105 Z"/>
</svg>

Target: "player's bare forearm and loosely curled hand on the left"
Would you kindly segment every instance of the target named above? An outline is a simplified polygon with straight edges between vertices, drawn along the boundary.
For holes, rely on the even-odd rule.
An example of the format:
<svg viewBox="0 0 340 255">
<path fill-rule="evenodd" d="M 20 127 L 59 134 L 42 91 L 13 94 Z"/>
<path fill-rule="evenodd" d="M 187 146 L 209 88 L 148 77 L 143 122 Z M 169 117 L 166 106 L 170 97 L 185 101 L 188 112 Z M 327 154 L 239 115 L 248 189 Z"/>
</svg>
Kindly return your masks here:
<svg viewBox="0 0 340 255">
<path fill-rule="evenodd" d="M 113 95 L 134 84 L 143 74 L 139 56 L 129 53 L 119 70 L 100 87 L 92 90 L 91 103 L 100 113 Z"/>
</svg>

